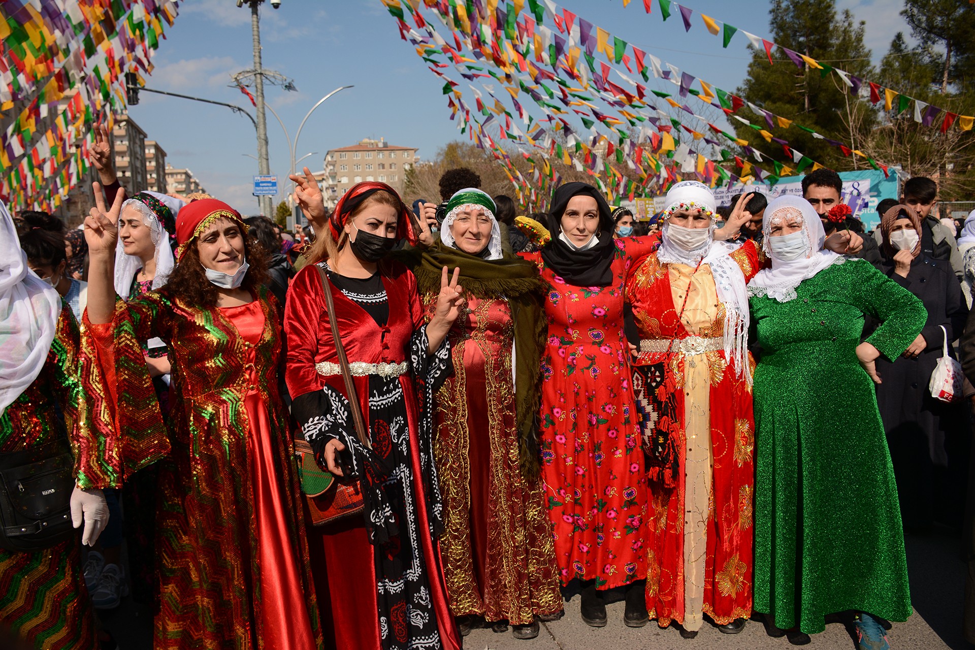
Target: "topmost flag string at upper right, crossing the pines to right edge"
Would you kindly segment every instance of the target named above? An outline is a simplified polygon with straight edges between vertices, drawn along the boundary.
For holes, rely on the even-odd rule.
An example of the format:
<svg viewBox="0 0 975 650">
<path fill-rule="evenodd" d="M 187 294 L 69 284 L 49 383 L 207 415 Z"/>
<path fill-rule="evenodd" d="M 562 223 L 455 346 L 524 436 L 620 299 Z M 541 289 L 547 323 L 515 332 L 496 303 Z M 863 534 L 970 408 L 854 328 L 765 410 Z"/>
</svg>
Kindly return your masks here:
<svg viewBox="0 0 975 650">
<path fill-rule="evenodd" d="M 547 0 L 541 0 L 546 5 L 549 4 Z M 660 16 L 666 21 L 673 15 L 674 8 L 677 8 L 678 13 L 681 15 L 683 20 L 684 31 L 690 31 L 692 26 L 691 18 L 694 15 L 694 10 L 686 7 L 673 0 L 657 0 L 658 7 L 660 9 Z M 623 6 L 630 4 L 630 0 L 623 0 Z M 643 8 L 647 14 L 652 13 L 652 0 L 643 0 Z M 922 124 L 925 127 L 932 127 L 937 125 L 941 133 L 946 133 L 957 123 L 958 129 L 961 131 L 971 131 L 972 126 L 975 125 L 975 116 L 970 115 L 959 115 L 953 113 L 947 109 L 942 109 L 932 104 L 921 101 L 911 96 L 907 96 L 900 91 L 892 88 L 887 88 L 882 84 L 873 82 L 867 79 L 862 79 L 854 74 L 846 72 L 830 65 L 826 61 L 819 61 L 813 57 L 808 57 L 799 52 L 794 52 L 787 47 L 769 41 L 761 36 L 756 36 L 744 29 L 739 29 L 727 22 L 722 22 L 721 20 L 713 19 L 710 16 L 697 12 L 701 17 L 701 21 L 707 30 L 718 36 L 722 35 L 722 47 L 727 48 L 731 39 L 738 32 L 744 34 L 748 39 L 749 44 L 754 47 L 759 52 L 764 51 L 765 57 L 768 59 L 769 65 L 774 65 L 772 59 L 772 50 L 779 48 L 785 53 L 789 59 L 798 65 L 800 69 L 807 66 L 812 69 L 820 71 L 820 75 L 825 77 L 828 74 L 835 73 L 842 80 L 843 84 L 849 88 L 853 96 L 857 96 L 861 99 L 870 99 L 872 104 L 878 104 L 881 100 L 883 101 L 883 109 L 885 111 L 896 111 L 898 114 L 903 113 L 914 102 L 914 120 L 915 122 Z M 940 118 L 941 114 L 944 116 Z"/>
</svg>

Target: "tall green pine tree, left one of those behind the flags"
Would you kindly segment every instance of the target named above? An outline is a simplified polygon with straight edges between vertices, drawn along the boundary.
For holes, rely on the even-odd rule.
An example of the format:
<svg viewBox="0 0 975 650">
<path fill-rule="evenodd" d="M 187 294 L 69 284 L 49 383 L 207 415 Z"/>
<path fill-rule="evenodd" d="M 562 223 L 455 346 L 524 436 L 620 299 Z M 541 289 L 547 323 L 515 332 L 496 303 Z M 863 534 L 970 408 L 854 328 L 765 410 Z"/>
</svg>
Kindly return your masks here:
<svg viewBox="0 0 975 650">
<path fill-rule="evenodd" d="M 864 45 L 863 21 L 857 22 L 844 10 L 837 14 L 836 0 L 772 0 L 772 40 L 783 48 L 812 57 L 823 70 L 806 64 L 798 67 L 781 48 L 772 50 L 773 65 L 764 50 L 753 54 L 748 76 L 736 94 L 795 124 L 788 129 L 770 130 L 786 139 L 805 156 L 837 171 L 865 169 L 865 161 L 844 156 L 839 147 L 813 137 L 798 125 L 839 140 L 852 149 L 861 148 L 865 137 L 877 123 L 877 113 L 869 102 L 858 100 L 833 67 L 861 79 L 872 79 L 875 71 L 871 52 Z M 830 66 L 830 67 L 828 67 Z M 866 83 L 866 82 L 864 82 Z M 752 124 L 767 129 L 761 116 L 747 106 L 739 113 Z M 766 142 L 758 132 L 731 120 L 738 137 L 749 141 L 762 154 L 789 165 L 782 147 Z"/>
</svg>

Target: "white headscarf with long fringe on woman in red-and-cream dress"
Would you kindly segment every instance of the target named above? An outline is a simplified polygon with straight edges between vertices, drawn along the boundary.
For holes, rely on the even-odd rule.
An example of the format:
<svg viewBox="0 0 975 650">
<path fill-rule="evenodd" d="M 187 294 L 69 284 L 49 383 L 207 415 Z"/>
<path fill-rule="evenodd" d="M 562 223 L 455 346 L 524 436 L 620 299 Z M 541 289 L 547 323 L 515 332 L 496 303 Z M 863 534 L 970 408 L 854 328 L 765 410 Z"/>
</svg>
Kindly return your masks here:
<svg viewBox="0 0 975 650">
<path fill-rule="evenodd" d="M 667 208 L 663 211 L 664 226 L 661 231 L 662 243 L 657 250 L 657 260 L 668 264 L 686 264 L 694 268 L 701 264 L 711 267 L 715 279 L 718 299 L 724 305 L 724 359 L 731 363 L 738 376 L 745 375 L 751 385 L 752 371 L 748 364 L 748 291 L 745 275 L 728 253 L 738 247 L 725 242 L 715 242 L 715 210 L 718 202 L 711 189 L 696 180 L 684 180 L 667 192 Z M 668 242 L 670 215 L 677 210 L 702 210 L 711 217 L 708 241 L 694 250 L 685 250 Z"/>
</svg>

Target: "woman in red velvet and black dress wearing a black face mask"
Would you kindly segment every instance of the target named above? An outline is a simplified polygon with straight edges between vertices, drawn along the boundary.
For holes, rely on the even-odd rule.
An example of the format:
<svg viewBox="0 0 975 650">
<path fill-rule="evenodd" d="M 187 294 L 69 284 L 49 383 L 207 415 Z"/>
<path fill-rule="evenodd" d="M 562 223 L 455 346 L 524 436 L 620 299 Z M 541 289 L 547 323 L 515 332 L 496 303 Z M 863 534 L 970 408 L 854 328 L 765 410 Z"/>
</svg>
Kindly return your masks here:
<svg viewBox="0 0 975 650">
<path fill-rule="evenodd" d="M 317 184 L 292 178 L 302 210 L 322 223 Z M 413 274 L 384 259 L 398 237 L 415 242 L 417 234 L 385 183 L 352 187 L 317 234 L 285 310 L 292 414 L 318 465 L 358 478 L 363 502 L 361 513 L 307 527 L 322 620 L 335 648 L 459 648 L 436 547 L 444 526 L 432 440 L 433 394 L 451 371 L 447 333 L 464 303 L 459 269 L 448 282 L 443 268 L 426 323 Z M 355 399 L 343 382 L 332 319 Z M 317 499 L 307 502 L 309 523 Z"/>
</svg>

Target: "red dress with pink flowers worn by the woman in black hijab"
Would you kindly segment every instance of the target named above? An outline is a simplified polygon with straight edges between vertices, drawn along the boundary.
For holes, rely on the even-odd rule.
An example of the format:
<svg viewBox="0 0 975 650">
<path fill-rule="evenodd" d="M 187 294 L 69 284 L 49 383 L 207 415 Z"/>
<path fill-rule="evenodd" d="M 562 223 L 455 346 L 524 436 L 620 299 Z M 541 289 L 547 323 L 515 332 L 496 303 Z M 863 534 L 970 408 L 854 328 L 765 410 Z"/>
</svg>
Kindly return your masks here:
<svg viewBox="0 0 975 650">
<path fill-rule="evenodd" d="M 652 238 L 615 241 L 612 282 L 572 287 L 542 262 L 550 285 L 542 356 L 542 474 L 563 584 L 612 589 L 646 577 L 646 477 L 623 335 L 623 287 Z"/>
</svg>

